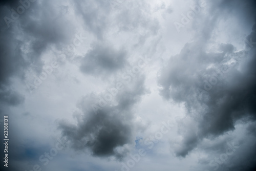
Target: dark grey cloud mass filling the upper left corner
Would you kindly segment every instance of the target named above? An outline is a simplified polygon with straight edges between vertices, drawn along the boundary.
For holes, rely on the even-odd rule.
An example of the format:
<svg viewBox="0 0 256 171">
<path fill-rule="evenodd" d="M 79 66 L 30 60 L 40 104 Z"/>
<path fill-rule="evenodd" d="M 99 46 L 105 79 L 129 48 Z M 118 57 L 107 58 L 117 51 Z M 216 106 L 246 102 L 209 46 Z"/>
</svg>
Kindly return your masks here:
<svg viewBox="0 0 256 171">
<path fill-rule="evenodd" d="M 11 1 L 0 6 L 0 84 L 4 86 L 10 83 L 10 77 L 24 79 L 28 69 L 40 73 L 44 66 L 41 55 L 50 46 L 59 48 L 65 44 L 73 32 L 72 25 L 67 26 L 67 20 L 63 19 L 65 14 L 62 9 L 55 9 L 49 1 L 42 4 L 30 2 L 25 12 L 13 19 L 11 9 L 15 11 L 18 6 L 22 6 L 17 2 Z M 10 27 L 7 27 L 4 17 L 12 19 Z"/>
</svg>

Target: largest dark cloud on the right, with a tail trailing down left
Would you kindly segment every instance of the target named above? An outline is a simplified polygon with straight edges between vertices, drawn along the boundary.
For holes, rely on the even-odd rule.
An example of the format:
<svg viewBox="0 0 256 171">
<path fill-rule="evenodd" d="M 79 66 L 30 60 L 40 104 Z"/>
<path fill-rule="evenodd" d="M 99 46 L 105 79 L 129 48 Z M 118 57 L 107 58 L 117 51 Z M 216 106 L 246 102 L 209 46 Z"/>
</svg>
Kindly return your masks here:
<svg viewBox="0 0 256 171">
<path fill-rule="evenodd" d="M 177 156 L 185 157 L 198 141 L 234 130 L 237 120 L 256 116 L 255 26 L 242 51 L 220 44 L 207 52 L 202 42 L 186 44 L 161 70 L 160 94 L 184 103 L 197 128 L 184 135 Z"/>
</svg>

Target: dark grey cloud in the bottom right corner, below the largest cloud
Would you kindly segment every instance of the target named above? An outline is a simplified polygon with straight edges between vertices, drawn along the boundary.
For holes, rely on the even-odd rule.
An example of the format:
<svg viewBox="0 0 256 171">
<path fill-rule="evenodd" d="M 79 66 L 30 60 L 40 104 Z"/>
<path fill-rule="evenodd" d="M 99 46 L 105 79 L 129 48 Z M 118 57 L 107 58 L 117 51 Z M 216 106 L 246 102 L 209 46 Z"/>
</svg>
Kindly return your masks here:
<svg viewBox="0 0 256 171">
<path fill-rule="evenodd" d="M 207 155 L 199 159 L 200 168 L 196 167 L 191 170 L 255 170 L 256 134 L 252 134 L 251 129 L 255 127 L 256 122 L 249 118 L 244 118 L 239 122 L 245 125 L 245 132 L 239 135 L 242 138 L 234 140 L 240 130 L 235 134 L 204 139 L 199 146 Z"/>
</svg>

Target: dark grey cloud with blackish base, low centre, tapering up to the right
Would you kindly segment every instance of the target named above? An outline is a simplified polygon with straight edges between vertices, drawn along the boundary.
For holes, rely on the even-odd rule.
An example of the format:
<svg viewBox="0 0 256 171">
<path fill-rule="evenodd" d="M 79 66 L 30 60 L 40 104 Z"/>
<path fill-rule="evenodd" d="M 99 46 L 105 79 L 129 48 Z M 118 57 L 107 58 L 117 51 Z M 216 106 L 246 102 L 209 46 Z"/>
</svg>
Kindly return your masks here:
<svg viewBox="0 0 256 171">
<path fill-rule="evenodd" d="M 84 97 L 78 107 L 82 115 L 77 115 L 77 125 L 61 121 L 62 135 L 70 140 L 71 147 L 77 151 L 90 152 L 94 156 L 115 156 L 121 160 L 129 153 L 129 146 L 135 140 L 134 105 L 145 93 L 144 77 L 138 78 L 118 92 L 113 104 L 106 105 L 95 114 L 91 105 L 102 98 Z M 89 150 L 88 150 L 89 149 Z"/>
</svg>

